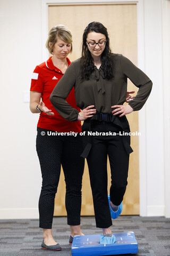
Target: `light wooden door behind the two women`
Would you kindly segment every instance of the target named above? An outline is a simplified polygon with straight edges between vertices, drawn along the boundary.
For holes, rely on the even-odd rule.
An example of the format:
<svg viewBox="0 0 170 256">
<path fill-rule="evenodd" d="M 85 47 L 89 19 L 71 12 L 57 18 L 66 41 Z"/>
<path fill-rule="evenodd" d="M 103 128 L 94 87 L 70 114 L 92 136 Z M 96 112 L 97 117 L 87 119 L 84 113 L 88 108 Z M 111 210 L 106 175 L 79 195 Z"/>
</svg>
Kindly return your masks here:
<svg viewBox="0 0 170 256">
<path fill-rule="evenodd" d="M 114 53 L 122 53 L 137 65 L 137 6 L 136 4 L 90 4 L 90 5 L 56 5 L 49 6 L 49 29 L 63 24 L 73 34 L 73 52 L 69 58 L 73 61 L 81 56 L 81 43 L 84 28 L 91 21 L 99 21 L 108 30 L 111 49 Z M 128 90 L 135 87 L 130 81 Z M 138 131 L 138 112 L 127 116 L 131 132 Z M 123 199 L 122 214 L 139 214 L 139 150 L 138 136 L 131 136 L 134 152 L 130 155 L 128 187 Z M 108 162 L 108 191 L 111 184 L 111 171 Z M 66 215 L 65 182 L 63 171 L 55 198 L 54 215 Z M 94 215 L 92 194 L 89 182 L 87 163 L 84 169 L 82 186 L 81 215 Z"/>
</svg>

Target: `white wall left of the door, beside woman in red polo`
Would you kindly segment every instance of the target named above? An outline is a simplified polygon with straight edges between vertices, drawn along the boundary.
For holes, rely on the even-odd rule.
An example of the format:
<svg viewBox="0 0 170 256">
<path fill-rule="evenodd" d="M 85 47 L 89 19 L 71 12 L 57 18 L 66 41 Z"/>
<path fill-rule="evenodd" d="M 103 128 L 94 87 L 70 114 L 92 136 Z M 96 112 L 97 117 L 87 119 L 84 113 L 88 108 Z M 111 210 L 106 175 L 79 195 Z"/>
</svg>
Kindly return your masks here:
<svg viewBox="0 0 170 256">
<path fill-rule="evenodd" d="M 41 58 L 41 0 L 1 1 L 0 218 L 38 218 L 38 115 L 23 103 Z"/>
</svg>

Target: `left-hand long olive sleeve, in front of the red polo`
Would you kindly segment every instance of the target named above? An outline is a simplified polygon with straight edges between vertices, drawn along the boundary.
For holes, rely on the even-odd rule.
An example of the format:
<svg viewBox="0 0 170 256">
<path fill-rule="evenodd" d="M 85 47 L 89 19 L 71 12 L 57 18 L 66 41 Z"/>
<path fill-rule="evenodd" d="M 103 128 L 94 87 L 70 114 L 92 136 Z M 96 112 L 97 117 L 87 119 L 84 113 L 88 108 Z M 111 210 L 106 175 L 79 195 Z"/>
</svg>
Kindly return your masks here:
<svg viewBox="0 0 170 256">
<path fill-rule="evenodd" d="M 58 113 L 68 121 L 77 121 L 79 115 L 79 111 L 65 100 L 75 85 L 75 78 L 74 64 L 71 63 L 49 98 Z"/>
</svg>

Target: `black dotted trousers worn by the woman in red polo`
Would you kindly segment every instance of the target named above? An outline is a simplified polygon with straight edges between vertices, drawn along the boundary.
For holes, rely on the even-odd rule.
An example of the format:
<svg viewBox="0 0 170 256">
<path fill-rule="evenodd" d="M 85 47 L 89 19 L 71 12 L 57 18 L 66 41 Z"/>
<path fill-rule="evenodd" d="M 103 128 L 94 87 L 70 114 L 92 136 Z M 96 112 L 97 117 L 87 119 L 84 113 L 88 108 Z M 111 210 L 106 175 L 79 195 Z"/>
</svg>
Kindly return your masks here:
<svg viewBox="0 0 170 256">
<path fill-rule="evenodd" d="M 45 132 L 42 135 L 41 132 Z M 39 227 L 51 229 L 54 214 L 54 199 L 60 179 L 61 165 L 66 183 L 65 206 L 67 224 L 80 225 L 81 187 L 84 170 L 82 136 L 48 135 L 49 130 L 37 127 L 36 148 L 42 173 L 39 197 Z M 54 133 L 54 132 L 53 132 Z"/>
</svg>

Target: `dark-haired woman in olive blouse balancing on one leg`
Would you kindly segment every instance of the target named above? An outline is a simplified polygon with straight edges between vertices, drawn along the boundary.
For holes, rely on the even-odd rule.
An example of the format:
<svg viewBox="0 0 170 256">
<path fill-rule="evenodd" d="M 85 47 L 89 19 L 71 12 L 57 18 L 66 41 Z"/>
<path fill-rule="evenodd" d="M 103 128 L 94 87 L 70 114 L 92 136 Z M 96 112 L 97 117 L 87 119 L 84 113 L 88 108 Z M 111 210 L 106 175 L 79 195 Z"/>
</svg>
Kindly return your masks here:
<svg viewBox="0 0 170 256">
<path fill-rule="evenodd" d="M 127 79 L 139 88 L 126 100 Z M 79 113 L 67 102 L 74 87 Z M 140 110 L 151 92 L 152 82 L 145 73 L 121 54 L 111 53 L 107 29 L 91 22 L 83 33 L 82 57 L 73 61 L 50 96 L 53 106 L 69 121 L 84 121 L 82 132 L 87 158 L 96 226 L 104 236 L 112 236 L 112 219 L 122 212 L 128 178 L 130 128 L 126 114 Z M 88 107 L 89 106 L 89 107 Z M 107 155 L 111 165 L 112 185 L 107 195 Z"/>
</svg>

